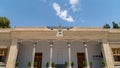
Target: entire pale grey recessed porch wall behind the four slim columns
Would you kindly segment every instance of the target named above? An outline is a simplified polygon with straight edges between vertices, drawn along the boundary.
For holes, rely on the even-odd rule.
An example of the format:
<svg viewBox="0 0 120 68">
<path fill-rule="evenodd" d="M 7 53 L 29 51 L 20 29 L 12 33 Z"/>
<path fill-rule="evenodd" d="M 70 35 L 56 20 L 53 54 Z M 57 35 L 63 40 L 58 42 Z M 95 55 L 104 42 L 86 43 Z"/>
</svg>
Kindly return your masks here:
<svg viewBox="0 0 120 68">
<path fill-rule="evenodd" d="M 22 43 L 19 46 L 19 57 L 20 68 L 26 68 L 27 62 L 32 60 L 32 46 L 30 42 Z M 53 62 L 56 64 L 64 64 L 65 61 L 68 62 L 68 49 L 67 43 L 64 41 L 55 41 L 53 44 Z M 36 52 L 42 53 L 42 68 L 45 68 L 46 62 L 50 61 L 50 46 L 47 41 L 40 41 L 37 43 Z M 72 61 L 75 63 L 75 68 L 78 68 L 77 65 L 77 53 L 84 53 L 83 43 L 78 41 L 71 42 L 71 56 Z M 100 55 L 101 46 L 96 42 L 88 43 L 88 53 L 89 60 L 93 61 L 94 68 L 101 68 L 102 59 L 93 59 L 93 55 Z"/>
</svg>

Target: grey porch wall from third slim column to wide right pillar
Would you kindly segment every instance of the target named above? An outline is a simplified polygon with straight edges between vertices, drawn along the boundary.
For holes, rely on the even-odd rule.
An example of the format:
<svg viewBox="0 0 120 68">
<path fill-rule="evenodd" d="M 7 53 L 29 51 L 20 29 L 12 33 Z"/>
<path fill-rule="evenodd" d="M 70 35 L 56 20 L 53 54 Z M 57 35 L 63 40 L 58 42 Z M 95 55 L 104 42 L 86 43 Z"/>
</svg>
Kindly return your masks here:
<svg viewBox="0 0 120 68">
<path fill-rule="evenodd" d="M 101 68 L 101 60 L 102 58 L 94 58 L 95 55 L 100 55 L 101 53 L 101 45 L 96 42 L 90 42 L 87 44 L 88 48 L 88 55 L 89 55 L 89 61 L 93 61 L 94 68 Z M 78 68 L 77 65 L 77 52 L 84 52 L 84 46 L 83 43 L 80 42 L 73 42 L 71 45 L 72 50 L 72 60 L 75 62 L 75 68 Z"/>
</svg>

